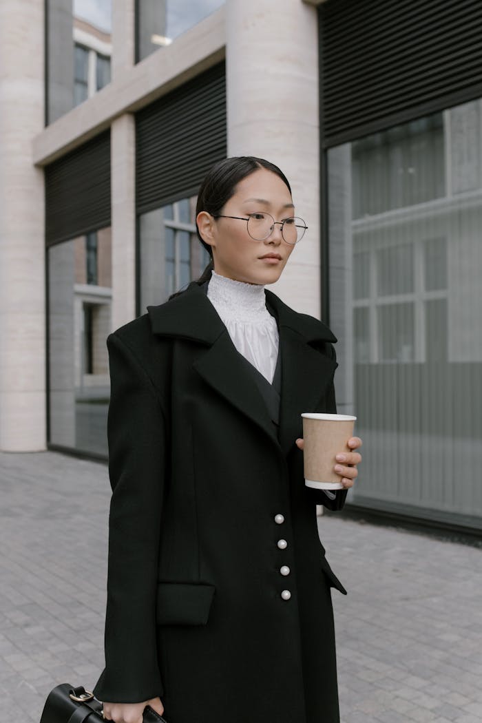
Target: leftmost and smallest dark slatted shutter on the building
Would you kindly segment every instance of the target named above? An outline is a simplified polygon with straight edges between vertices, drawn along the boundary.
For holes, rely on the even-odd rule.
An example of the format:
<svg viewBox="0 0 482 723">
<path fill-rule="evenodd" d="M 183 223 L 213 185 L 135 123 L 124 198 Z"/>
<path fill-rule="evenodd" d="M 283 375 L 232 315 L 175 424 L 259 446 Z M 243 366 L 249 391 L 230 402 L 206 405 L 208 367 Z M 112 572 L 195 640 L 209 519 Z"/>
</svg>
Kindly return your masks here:
<svg viewBox="0 0 482 723">
<path fill-rule="evenodd" d="M 46 244 L 111 225 L 111 132 L 45 168 Z"/>
</svg>

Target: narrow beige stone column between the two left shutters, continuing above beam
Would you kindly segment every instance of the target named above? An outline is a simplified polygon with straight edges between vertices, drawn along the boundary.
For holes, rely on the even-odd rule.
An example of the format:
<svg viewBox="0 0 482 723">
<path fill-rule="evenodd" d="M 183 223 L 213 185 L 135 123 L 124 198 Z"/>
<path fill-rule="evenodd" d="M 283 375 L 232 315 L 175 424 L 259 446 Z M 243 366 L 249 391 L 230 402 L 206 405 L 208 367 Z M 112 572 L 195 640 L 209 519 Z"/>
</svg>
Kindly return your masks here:
<svg viewBox="0 0 482 723">
<path fill-rule="evenodd" d="M 134 0 L 112 4 L 113 80 L 134 64 Z M 111 328 L 136 312 L 135 123 L 132 114 L 111 125 L 112 307 Z"/>
</svg>

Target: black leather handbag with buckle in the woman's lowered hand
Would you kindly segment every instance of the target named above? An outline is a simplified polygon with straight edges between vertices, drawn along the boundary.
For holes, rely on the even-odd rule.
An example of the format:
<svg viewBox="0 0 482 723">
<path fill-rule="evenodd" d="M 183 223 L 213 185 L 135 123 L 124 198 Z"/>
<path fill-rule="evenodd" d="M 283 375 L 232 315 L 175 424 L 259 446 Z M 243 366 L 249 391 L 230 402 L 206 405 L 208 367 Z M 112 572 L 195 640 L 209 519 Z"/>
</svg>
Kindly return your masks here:
<svg viewBox="0 0 482 723">
<path fill-rule="evenodd" d="M 40 723 L 100 723 L 102 703 L 89 690 L 74 688 L 69 683 L 61 683 L 53 688 L 43 706 Z M 167 723 L 162 716 L 150 706 L 145 706 L 143 723 Z"/>
</svg>

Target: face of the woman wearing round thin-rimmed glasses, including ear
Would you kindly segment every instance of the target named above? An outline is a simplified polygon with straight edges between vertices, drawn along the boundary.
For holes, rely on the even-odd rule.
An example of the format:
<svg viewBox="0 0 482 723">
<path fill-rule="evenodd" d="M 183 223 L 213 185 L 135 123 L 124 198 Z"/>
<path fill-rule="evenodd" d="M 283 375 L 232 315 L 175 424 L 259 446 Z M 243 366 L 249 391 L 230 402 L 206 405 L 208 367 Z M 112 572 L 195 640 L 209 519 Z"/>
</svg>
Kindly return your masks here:
<svg viewBox="0 0 482 723">
<path fill-rule="evenodd" d="M 249 214 L 270 213 L 275 221 L 293 216 L 295 209 L 288 187 L 279 176 L 260 168 L 240 181 L 220 213 L 248 218 Z M 202 211 L 197 217 L 202 239 L 212 247 L 216 273 L 245 283 L 275 283 L 294 246 L 286 244 L 281 226 L 275 224 L 264 241 L 254 241 L 246 221 L 235 218 L 213 218 Z M 267 254 L 271 257 L 267 258 Z"/>
</svg>

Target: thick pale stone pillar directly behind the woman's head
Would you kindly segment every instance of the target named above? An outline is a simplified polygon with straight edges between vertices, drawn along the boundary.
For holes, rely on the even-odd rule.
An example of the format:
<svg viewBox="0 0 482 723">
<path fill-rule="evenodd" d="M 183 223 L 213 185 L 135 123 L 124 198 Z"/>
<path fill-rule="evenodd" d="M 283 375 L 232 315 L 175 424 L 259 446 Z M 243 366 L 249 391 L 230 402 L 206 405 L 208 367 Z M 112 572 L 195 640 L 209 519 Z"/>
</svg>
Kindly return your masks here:
<svg viewBox="0 0 482 723">
<path fill-rule="evenodd" d="M 272 291 L 320 315 L 317 11 L 298 0 L 227 0 L 228 154 L 288 176 L 309 231 Z"/>
</svg>

